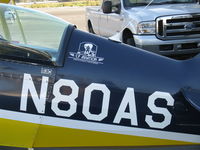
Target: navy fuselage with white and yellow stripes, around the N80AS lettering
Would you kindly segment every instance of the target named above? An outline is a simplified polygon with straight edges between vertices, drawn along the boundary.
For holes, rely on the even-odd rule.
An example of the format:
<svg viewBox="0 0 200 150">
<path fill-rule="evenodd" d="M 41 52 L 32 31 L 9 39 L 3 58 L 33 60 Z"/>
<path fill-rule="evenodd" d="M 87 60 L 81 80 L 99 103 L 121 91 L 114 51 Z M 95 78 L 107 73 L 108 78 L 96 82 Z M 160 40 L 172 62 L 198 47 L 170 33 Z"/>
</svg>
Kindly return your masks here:
<svg viewBox="0 0 200 150">
<path fill-rule="evenodd" d="M 84 44 L 95 47 L 95 61 L 78 59 Z M 65 31 L 60 47 L 55 65 L 0 59 L 0 145 L 120 148 L 200 143 L 199 56 L 174 60 L 85 33 L 73 26 Z M 48 70 L 51 73 L 46 74 Z M 26 80 L 32 79 L 38 95 L 43 94 L 43 77 L 48 78 L 44 112 L 38 112 L 30 93 L 27 108 L 20 109 L 26 75 L 31 77 Z M 52 109 L 57 97 L 53 92 L 55 84 L 64 80 L 78 87 L 77 109 L 69 116 L 58 115 Z M 87 118 L 83 113 L 85 91 L 91 84 L 98 88 L 103 85 L 110 93 L 108 114 L 103 119 Z M 98 88 L 91 92 L 89 108 L 90 113 L 96 115 L 105 111 L 103 94 Z M 128 88 L 134 89 L 135 99 L 131 100 L 136 103 L 137 124 L 126 118 L 114 122 Z M 70 86 L 63 86 L 59 92 L 70 95 L 73 91 Z M 172 114 L 170 124 L 163 128 L 150 127 L 146 121 L 147 115 L 152 115 L 155 122 L 163 121 L 162 114 L 153 113 L 148 107 L 149 97 L 155 92 L 168 93 L 175 100 L 173 106 L 168 106 L 162 98 L 156 101 L 157 107 L 164 107 Z M 58 108 L 66 111 L 71 106 L 64 100 L 61 99 Z M 126 112 L 130 112 L 130 108 Z"/>
</svg>

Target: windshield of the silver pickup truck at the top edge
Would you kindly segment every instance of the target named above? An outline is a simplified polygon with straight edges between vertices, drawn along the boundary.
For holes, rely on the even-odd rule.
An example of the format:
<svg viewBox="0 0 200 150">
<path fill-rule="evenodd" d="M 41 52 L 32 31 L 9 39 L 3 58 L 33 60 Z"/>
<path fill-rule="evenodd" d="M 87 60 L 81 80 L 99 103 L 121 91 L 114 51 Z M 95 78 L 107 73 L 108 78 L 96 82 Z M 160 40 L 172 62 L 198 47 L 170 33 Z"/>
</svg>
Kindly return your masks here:
<svg viewBox="0 0 200 150">
<path fill-rule="evenodd" d="M 198 0 L 124 0 L 124 7 L 137 7 L 146 5 L 196 3 Z"/>
</svg>

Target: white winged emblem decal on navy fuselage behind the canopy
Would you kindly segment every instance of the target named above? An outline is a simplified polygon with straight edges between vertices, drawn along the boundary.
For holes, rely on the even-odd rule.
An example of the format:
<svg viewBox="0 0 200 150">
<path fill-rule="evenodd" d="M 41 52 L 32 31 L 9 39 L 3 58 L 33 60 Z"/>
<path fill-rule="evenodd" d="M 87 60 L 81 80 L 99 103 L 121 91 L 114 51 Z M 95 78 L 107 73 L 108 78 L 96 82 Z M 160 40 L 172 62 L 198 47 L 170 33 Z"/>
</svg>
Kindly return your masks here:
<svg viewBox="0 0 200 150">
<path fill-rule="evenodd" d="M 78 52 L 70 52 L 69 58 L 91 64 L 103 64 L 104 58 L 97 57 L 97 49 L 98 47 L 93 43 L 82 42 L 79 45 Z"/>
</svg>

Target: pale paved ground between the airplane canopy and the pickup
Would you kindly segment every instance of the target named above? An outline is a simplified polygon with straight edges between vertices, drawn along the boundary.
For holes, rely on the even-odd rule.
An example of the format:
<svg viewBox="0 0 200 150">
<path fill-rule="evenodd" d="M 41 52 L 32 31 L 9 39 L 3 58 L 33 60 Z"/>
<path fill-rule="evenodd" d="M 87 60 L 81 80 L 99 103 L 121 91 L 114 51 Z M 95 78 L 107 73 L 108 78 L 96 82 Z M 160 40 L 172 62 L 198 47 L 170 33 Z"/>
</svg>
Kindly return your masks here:
<svg viewBox="0 0 200 150">
<path fill-rule="evenodd" d="M 86 31 L 85 7 L 37 8 L 37 10 L 62 18 L 75 24 L 78 29 Z"/>
</svg>

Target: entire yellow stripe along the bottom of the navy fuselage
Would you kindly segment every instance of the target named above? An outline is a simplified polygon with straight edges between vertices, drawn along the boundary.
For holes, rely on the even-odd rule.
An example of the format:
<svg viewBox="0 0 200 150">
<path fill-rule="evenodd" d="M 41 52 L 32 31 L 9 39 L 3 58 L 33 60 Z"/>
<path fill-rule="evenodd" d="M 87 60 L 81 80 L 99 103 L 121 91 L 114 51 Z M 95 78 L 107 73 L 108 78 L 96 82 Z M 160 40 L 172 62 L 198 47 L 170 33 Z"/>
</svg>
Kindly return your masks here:
<svg viewBox="0 0 200 150">
<path fill-rule="evenodd" d="M 39 129 L 39 130 L 38 130 Z M 160 146 L 193 143 L 0 119 L 0 145 L 15 147 Z"/>
</svg>

